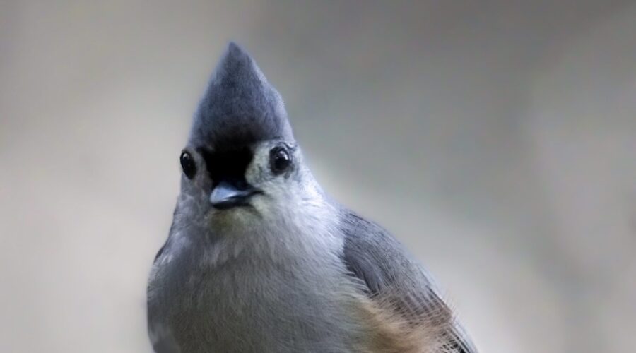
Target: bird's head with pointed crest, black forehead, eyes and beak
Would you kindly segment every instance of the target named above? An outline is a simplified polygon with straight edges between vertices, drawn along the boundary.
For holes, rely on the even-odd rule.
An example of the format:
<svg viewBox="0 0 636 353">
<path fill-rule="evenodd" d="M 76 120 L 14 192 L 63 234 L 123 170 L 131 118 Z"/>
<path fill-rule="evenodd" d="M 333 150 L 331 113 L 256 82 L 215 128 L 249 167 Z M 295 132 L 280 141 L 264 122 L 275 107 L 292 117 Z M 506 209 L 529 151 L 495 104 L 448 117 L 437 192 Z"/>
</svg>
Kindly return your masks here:
<svg viewBox="0 0 636 353">
<path fill-rule="evenodd" d="M 281 95 L 234 43 L 201 100 L 180 162 L 179 203 L 208 222 L 276 213 L 303 188 L 306 171 Z"/>
</svg>

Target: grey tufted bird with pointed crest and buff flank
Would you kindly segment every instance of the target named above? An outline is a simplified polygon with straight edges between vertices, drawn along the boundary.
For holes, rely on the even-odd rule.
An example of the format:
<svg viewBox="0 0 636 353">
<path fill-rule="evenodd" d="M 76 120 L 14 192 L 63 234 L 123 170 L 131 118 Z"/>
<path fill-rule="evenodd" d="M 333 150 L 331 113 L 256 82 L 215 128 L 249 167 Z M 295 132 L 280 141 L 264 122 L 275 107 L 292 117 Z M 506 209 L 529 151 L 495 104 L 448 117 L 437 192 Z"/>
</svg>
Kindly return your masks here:
<svg viewBox="0 0 636 353">
<path fill-rule="evenodd" d="M 154 352 L 477 352 L 423 265 L 318 184 L 281 95 L 235 42 L 179 163 L 148 279 Z"/>
</svg>

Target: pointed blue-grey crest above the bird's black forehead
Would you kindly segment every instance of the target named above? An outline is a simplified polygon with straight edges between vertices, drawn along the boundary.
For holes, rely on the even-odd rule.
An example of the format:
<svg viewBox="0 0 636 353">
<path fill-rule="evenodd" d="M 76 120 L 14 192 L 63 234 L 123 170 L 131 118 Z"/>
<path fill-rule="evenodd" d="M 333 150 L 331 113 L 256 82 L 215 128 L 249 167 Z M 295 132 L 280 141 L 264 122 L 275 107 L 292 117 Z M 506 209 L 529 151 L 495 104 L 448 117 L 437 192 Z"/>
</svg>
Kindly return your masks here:
<svg viewBox="0 0 636 353">
<path fill-rule="evenodd" d="M 194 116 L 190 143 L 218 149 L 276 138 L 293 141 L 281 95 L 230 43 Z"/>
</svg>

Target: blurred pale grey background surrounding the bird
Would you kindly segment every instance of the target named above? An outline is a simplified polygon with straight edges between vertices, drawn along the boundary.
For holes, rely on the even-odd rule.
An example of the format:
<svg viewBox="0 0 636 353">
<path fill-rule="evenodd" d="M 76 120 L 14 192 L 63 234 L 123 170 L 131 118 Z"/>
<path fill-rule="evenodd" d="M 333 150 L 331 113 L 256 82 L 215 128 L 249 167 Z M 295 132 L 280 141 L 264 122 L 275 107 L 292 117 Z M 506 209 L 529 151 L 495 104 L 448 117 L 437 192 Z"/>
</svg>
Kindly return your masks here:
<svg viewBox="0 0 636 353">
<path fill-rule="evenodd" d="M 150 352 L 146 276 L 228 40 L 481 352 L 634 349 L 634 1 L 2 0 L 1 352 Z"/>
</svg>

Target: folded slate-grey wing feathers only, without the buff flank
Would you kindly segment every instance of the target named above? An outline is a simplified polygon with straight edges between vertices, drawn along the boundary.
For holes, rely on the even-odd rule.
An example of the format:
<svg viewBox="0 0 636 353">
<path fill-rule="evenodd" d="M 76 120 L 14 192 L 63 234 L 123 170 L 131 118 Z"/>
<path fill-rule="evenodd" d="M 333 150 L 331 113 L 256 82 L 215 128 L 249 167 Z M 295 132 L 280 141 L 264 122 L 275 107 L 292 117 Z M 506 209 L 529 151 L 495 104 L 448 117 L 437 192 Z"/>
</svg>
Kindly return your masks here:
<svg viewBox="0 0 636 353">
<path fill-rule="evenodd" d="M 413 261 L 389 232 L 343 208 L 341 229 L 345 234 L 343 261 L 364 285 L 370 297 L 384 294 L 404 306 L 396 310 L 407 315 L 427 315 L 449 310 L 422 266 Z M 447 352 L 476 353 L 464 328 L 452 318 L 444 332 Z"/>
</svg>

